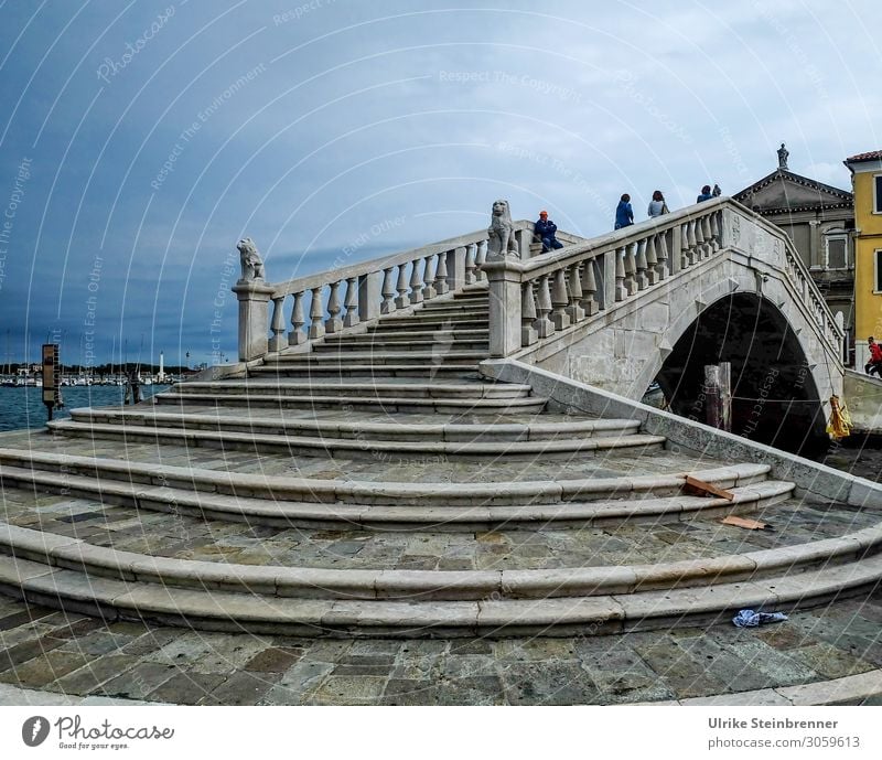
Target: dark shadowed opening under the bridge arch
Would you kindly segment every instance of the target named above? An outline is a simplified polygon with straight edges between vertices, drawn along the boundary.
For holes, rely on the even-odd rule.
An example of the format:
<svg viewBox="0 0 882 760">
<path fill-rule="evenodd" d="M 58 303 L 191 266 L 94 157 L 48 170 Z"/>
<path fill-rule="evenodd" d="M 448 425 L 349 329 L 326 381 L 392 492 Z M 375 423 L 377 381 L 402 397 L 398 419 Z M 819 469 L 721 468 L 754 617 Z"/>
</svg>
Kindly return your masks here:
<svg viewBox="0 0 882 760">
<path fill-rule="evenodd" d="M 732 365 L 732 432 L 814 458 L 829 439 L 803 346 L 782 312 L 755 293 L 714 302 L 679 338 L 656 381 L 670 410 L 706 421 L 704 365 Z"/>
</svg>

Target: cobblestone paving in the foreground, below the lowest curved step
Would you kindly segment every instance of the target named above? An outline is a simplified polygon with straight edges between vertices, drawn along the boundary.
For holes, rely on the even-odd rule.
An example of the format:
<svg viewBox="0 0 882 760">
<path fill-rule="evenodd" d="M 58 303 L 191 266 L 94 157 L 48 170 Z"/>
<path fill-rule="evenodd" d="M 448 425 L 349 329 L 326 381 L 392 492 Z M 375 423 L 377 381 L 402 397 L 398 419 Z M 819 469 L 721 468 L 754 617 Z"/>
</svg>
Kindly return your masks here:
<svg viewBox="0 0 882 760">
<path fill-rule="evenodd" d="M 722 623 L 568 639 L 306 640 L 105 623 L 0 597 L 0 683 L 187 705 L 659 702 L 878 668 L 880 624 L 876 591 L 753 630 Z"/>
</svg>

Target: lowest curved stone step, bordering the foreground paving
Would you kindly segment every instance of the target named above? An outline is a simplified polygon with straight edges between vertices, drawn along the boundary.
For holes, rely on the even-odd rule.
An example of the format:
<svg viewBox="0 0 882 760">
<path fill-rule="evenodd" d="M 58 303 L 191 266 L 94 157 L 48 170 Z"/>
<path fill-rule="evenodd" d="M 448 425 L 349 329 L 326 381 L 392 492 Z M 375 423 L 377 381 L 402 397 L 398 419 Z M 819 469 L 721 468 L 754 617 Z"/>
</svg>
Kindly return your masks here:
<svg viewBox="0 0 882 760">
<path fill-rule="evenodd" d="M 143 570 L 149 571 L 148 567 Z M 247 593 L 175 588 L 86 576 L 0 556 L 0 590 L 31 603 L 200 630 L 346 638 L 595 635 L 691 627 L 728 622 L 743 608 L 788 611 L 827 603 L 872 588 L 881 577 L 882 556 L 873 555 L 783 578 L 699 588 L 541 599 L 501 599 L 491 593 L 477 600 L 397 601 L 270 597 L 254 593 L 251 587 Z M 276 579 L 273 575 L 265 581 L 278 588 Z"/>
</svg>

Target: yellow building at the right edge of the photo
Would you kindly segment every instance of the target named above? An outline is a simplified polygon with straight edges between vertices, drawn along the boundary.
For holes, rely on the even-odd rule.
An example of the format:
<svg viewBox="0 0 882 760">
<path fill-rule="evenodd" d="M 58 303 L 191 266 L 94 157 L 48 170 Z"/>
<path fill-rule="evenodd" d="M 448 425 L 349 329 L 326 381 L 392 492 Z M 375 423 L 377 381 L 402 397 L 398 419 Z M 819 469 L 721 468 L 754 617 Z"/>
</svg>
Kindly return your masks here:
<svg viewBox="0 0 882 760">
<path fill-rule="evenodd" d="M 845 160 L 854 192 L 856 370 L 869 357 L 867 339 L 882 336 L 882 150 Z"/>
</svg>

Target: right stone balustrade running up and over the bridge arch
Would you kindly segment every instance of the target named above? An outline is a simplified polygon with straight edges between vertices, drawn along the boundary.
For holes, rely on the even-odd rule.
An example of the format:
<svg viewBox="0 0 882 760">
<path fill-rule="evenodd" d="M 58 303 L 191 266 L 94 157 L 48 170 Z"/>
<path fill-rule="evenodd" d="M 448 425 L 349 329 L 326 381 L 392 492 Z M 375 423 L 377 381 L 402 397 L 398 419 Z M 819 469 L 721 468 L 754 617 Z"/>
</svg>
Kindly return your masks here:
<svg viewBox="0 0 882 760">
<path fill-rule="evenodd" d="M 740 220 L 749 217 L 776 240 L 779 270 L 802 296 L 833 355 L 842 331 L 789 240 L 776 227 L 730 199 L 687 206 L 616 232 L 534 258 L 491 260 L 491 356 L 510 356 L 670 276 L 700 266 L 724 248 L 738 248 Z M 755 218 L 754 218 L 755 217 Z M 725 223 L 724 223 L 725 220 Z"/>
</svg>

